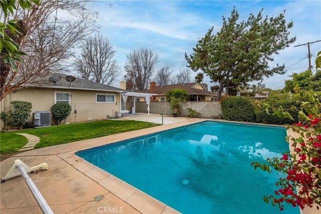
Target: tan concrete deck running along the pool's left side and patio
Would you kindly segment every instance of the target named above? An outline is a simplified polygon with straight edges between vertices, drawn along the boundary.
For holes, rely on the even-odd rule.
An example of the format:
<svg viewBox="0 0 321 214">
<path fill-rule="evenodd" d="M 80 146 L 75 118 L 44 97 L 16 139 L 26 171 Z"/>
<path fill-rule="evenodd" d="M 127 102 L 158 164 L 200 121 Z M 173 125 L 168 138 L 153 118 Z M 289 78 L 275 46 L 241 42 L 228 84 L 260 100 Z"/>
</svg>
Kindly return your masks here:
<svg viewBox="0 0 321 214">
<path fill-rule="evenodd" d="M 3 178 L 16 159 L 33 167 L 46 162 L 49 170 L 29 174 L 54 213 L 179 213 L 75 155 L 75 152 L 134 137 L 209 120 L 164 117 L 163 126 L 30 150 L 0 163 Z M 118 119 L 117 119 L 118 120 Z M 161 116 L 123 117 L 161 124 Z M 156 121 L 156 122 L 155 122 Z M 1 183 L 1 213 L 42 213 L 22 177 Z M 280 212 L 281 213 L 281 212 Z M 304 214 L 321 213 L 304 208 Z"/>
</svg>

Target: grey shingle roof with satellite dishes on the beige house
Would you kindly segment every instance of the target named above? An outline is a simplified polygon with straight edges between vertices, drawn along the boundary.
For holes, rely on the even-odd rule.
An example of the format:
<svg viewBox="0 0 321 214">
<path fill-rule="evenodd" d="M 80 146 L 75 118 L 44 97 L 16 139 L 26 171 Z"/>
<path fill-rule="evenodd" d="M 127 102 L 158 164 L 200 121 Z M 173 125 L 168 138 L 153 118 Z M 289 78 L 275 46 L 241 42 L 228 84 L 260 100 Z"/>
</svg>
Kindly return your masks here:
<svg viewBox="0 0 321 214">
<path fill-rule="evenodd" d="M 55 82 L 50 82 L 49 78 L 53 76 L 60 76 L 60 80 Z M 124 89 L 104 85 L 102 83 L 94 82 L 91 80 L 75 78 L 74 81 L 69 82 L 66 80 L 66 74 L 51 74 L 49 76 L 44 77 L 44 82 L 41 87 L 48 88 L 68 88 L 74 90 L 100 90 L 100 91 L 125 91 Z M 58 77 L 59 78 L 59 77 Z M 52 78 L 55 79 L 55 78 Z"/>
</svg>

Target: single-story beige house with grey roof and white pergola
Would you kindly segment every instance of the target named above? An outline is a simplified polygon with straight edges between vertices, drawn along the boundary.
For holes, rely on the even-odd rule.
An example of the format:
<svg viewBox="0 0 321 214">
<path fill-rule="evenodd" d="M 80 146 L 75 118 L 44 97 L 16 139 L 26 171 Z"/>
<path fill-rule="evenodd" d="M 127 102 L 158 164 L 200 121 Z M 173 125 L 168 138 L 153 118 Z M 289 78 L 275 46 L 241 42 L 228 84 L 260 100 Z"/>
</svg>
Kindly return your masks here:
<svg viewBox="0 0 321 214">
<path fill-rule="evenodd" d="M 63 102 L 69 103 L 72 108 L 71 114 L 64 120 L 64 123 L 76 123 L 121 117 L 121 113 L 129 113 L 130 108 L 132 113 L 135 113 L 135 103 L 129 100 L 138 95 L 140 97 L 152 95 L 126 91 L 121 84 L 120 87 L 122 88 L 117 88 L 60 73 L 44 77 L 41 81 L 41 86 L 37 85 L 9 93 L 1 100 L 0 111 L 9 112 L 11 101 L 29 101 L 32 103 L 30 121 L 35 122 L 33 113 L 48 113 L 52 105 Z M 149 108 L 149 104 L 147 108 Z M 55 124 L 52 119 L 50 123 Z M 1 123 L 1 129 L 2 127 L 4 127 L 3 122 Z"/>
</svg>

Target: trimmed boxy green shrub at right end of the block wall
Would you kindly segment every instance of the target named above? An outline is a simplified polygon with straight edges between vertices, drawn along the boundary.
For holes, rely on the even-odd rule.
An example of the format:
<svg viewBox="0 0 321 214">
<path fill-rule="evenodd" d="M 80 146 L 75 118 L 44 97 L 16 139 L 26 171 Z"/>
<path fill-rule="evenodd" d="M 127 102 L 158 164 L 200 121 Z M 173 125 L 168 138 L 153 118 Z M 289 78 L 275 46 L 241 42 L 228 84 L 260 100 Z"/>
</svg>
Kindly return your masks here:
<svg viewBox="0 0 321 214">
<path fill-rule="evenodd" d="M 230 96 L 221 100 L 222 115 L 228 121 L 255 122 L 253 99 Z"/>
</svg>

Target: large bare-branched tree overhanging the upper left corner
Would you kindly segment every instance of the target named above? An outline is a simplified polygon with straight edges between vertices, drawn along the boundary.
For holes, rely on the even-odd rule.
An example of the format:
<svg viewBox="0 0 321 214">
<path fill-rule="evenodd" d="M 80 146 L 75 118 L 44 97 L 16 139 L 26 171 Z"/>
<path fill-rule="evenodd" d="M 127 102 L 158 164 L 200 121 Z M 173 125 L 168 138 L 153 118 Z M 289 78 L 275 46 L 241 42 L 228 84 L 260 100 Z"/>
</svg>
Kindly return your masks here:
<svg viewBox="0 0 321 214">
<path fill-rule="evenodd" d="M 20 4 L 22 2 L 26 1 L 19 1 Z M 51 72 L 66 72 L 72 64 L 75 48 L 96 30 L 96 13 L 87 7 L 87 2 L 90 1 L 43 1 L 40 5 L 32 5 L 28 11 L 16 7 L 15 13 L 1 17 L 2 23 L 10 19 L 19 20 L 17 23 L 25 29 L 19 51 L 26 53 L 20 60 L 24 63 L 16 61 L 16 70 L 6 65 L 3 69 L 2 63 L 1 99 L 13 90 L 41 86 L 43 82 L 39 77 Z M 58 11 L 70 17 L 59 18 L 56 16 Z"/>
</svg>

